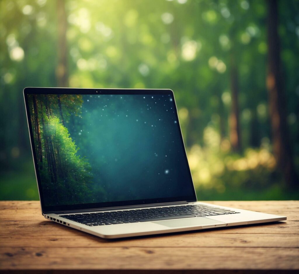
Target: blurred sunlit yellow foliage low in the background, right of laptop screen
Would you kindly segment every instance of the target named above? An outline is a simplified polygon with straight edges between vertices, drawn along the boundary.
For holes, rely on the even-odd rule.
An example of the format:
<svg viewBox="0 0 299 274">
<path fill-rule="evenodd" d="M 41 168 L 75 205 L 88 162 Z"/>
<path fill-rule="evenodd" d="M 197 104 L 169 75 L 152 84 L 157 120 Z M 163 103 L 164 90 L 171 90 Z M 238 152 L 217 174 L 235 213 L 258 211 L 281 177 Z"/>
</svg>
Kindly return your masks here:
<svg viewBox="0 0 299 274">
<path fill-rule="evenodd" d="M 273 180 L 282 184 L 269 143 L 264 140 L 261 148 L 248 148 L 244 155 L 232 154 L 228 140 L 221 140 L 212 126 L 204 131 L 204 145 L 193 145 L 188 151 L 188 161 L 201 192 L 213 189 L 224 197 L 227 189 L 254 192 L 272 186 Z"/>
</svg>

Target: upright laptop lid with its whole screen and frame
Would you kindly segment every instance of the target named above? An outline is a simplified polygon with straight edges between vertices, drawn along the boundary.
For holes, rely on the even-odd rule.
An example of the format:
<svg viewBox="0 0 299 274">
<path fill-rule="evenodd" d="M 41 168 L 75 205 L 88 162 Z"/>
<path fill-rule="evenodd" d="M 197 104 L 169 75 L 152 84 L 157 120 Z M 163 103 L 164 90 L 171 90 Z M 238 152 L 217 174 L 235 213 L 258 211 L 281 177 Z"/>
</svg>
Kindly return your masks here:
<svg viewBox="0 0 299 274">
<path fill-rule="evenodd" d="M 196 201 L 173 92 L 25 88 L 42 212 Z"/>
</svg>

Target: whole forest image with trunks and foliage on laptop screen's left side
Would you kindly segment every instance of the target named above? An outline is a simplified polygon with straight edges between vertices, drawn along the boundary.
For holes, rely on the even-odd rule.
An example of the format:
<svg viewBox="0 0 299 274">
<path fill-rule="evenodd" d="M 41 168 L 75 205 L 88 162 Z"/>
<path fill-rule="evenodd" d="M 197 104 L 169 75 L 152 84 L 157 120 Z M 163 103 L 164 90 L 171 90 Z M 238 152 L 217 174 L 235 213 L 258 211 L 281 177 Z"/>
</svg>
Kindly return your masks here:
<svg viewBox="0 0 299 274">
<path fill-rule="evenodd" d="M 44 100 L 40 95 L 30 94 L 29 110 L 45 203 L 88 203 L 91 200 L 91 167 L 84 157 L 77 155 L 79 148 L 65 127 L 71 112 L 79 112 L 82 96 L 68 95 L 68 100 L 64 100 L 64 95 L 46 94 L 43 97 Z M 58 108 L 55 108 L 54 100 L 58 100 Z M 64 115 L 62 100 L 68 110 L 63 112 Z"/>
</svg>

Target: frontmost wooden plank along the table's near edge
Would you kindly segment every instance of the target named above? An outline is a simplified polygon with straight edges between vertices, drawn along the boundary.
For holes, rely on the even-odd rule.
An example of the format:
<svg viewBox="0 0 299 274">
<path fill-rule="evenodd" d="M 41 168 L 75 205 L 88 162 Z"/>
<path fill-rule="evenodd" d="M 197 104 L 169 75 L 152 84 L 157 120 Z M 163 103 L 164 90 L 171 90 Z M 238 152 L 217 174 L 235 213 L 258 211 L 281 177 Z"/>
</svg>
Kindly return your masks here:
<svg viewBox="0 0 299 274">
<path fill-rule="evenodd" d="M 0 248 L 0 254 L 1 268 L 11 270 L 299 269 L 299 249 L 290 248 Z"/>
</svg>

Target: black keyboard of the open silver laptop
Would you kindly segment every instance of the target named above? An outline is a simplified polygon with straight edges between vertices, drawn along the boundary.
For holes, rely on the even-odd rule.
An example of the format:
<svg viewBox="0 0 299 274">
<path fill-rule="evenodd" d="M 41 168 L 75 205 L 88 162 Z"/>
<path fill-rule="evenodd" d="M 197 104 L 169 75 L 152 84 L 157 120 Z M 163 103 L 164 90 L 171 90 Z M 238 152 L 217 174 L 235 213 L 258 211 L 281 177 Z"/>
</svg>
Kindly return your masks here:
<svg viewBox="0 0 299 274">
<path fill-rule="evenodd" d="M 214 206 L 196 204 L 186 206 L 165 206 L 146 209 L 129 209 L 123 211 L 60 215 L 60 217 L 88 226 L 103 226 L 110 224 L 126 224 L 236 213 L 240 212 Z"/>
</svg>

